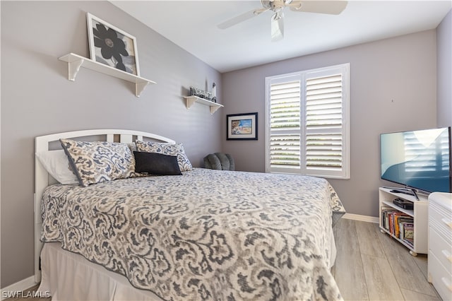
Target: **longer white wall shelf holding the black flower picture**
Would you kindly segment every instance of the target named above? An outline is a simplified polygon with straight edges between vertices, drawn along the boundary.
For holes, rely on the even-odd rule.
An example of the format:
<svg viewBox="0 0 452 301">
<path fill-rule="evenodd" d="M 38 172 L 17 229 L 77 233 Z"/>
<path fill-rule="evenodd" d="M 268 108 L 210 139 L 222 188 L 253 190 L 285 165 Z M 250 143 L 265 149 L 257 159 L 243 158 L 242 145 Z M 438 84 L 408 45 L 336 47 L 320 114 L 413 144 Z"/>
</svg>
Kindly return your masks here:
<svg viewBox="0 0 452 301">
<path fill-rule="evenodd" d="M 113 76 L 116 78 L 124 79 L 124 81 L 129 81 L 131 83 L 135 83 L 135 95 L 137 98 L 140 97 L 141 92 L 146 88 L 146 86 L 150 83 L 155 83 L 155 81 L 150 81 L 146 78 L 142 78 L 140 76 L 133 75 L 132 73 L 128 73 L 111 66 L 107 66 L 105 64 L 98 63 L 97 61 L 93 61 L 92 59 L 88 59 L 86 57 L 81 57 L 78 54 L 66 54 L 63 57 L 59 58 L 60 61 L 66 61 L 68 63 L 68 79 L 69 81 L 75 81 L 78 71 L 80 67 L 84 67 L 87 69 L 91 69 L 100 73 L 107 74 L 109 76 Z"/>
</svg>

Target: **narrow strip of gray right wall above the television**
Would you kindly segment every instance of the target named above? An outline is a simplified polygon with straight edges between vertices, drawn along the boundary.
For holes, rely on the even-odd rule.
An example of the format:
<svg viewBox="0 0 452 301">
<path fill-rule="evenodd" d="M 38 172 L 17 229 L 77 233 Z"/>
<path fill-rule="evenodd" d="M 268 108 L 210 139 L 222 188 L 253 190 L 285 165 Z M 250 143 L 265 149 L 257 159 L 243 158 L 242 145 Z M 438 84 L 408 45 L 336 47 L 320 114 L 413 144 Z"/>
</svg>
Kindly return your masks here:
<svg viewBox="0 0 452 301">
<path fill-rule="evenodd" d="M 438 28 L 438 126 L 452 125 L 452 10 L 448 12 Z"/>
</svg>

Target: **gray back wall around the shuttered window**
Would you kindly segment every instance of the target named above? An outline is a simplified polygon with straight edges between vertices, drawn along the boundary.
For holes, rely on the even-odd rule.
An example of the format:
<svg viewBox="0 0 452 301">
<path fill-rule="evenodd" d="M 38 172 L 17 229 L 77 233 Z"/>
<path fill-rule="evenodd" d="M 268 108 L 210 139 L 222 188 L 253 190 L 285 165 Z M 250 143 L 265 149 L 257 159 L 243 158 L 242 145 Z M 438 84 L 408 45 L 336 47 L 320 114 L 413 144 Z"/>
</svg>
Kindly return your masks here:
<svg viewBox="0 0 452 301">
<path fill-rule="evenodd" d="M 259 117 L 258 141 L 226 141 L 222 124 L 223 151 L 238 170 L 263 172 L 265 77 L 343 63 L 350 63 L 351 178 L 330 182 L 348 213 L 378 216 L 378 187 L 391 185 L 379 176 L 379 134 L 436 127 L 435 30 L 223 73 L 222 114 Z"/>
</svg>

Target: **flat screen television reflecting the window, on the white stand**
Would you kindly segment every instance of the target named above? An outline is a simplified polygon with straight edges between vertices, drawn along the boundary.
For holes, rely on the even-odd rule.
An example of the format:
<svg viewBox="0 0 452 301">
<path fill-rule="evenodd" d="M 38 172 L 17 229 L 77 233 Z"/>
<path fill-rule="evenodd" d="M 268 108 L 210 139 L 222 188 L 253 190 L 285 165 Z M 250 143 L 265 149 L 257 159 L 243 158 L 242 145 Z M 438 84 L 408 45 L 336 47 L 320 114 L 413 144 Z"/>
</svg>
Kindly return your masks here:
<svg viewBox="0 0 452 301">
<path fill-rule="evenodd" d="M 452 192 L 451 127 L 380 135 L 381 179 L 429 194 Z"/>
</svg>

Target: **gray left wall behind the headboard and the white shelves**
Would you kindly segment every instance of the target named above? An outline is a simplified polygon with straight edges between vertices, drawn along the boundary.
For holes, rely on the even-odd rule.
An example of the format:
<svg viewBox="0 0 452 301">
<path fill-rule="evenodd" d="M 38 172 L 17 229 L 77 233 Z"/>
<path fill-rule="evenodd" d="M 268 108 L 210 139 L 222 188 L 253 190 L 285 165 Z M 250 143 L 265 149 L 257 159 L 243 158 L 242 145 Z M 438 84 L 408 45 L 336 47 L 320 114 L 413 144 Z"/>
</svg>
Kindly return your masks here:
<svg viewBox="0 0 452 301">
<path fill-rule="evenodd" d="M 136 98 L 132 83 L 88 69 L 68 81 L 57 58 L 89 56 L 87 12 L 136 37 L 141 76 L 157 85 Z M 1 288 L 33 274 L 35 136 L 150 131 L 184 143 L 199 167 L 206 153 L 220 151 L 222 115 L 199 104 L 187 110 L 182 95 L 212 82 L 221 95 L 218 71 L 109 2 L 1 1 Z"/>
</svg>

